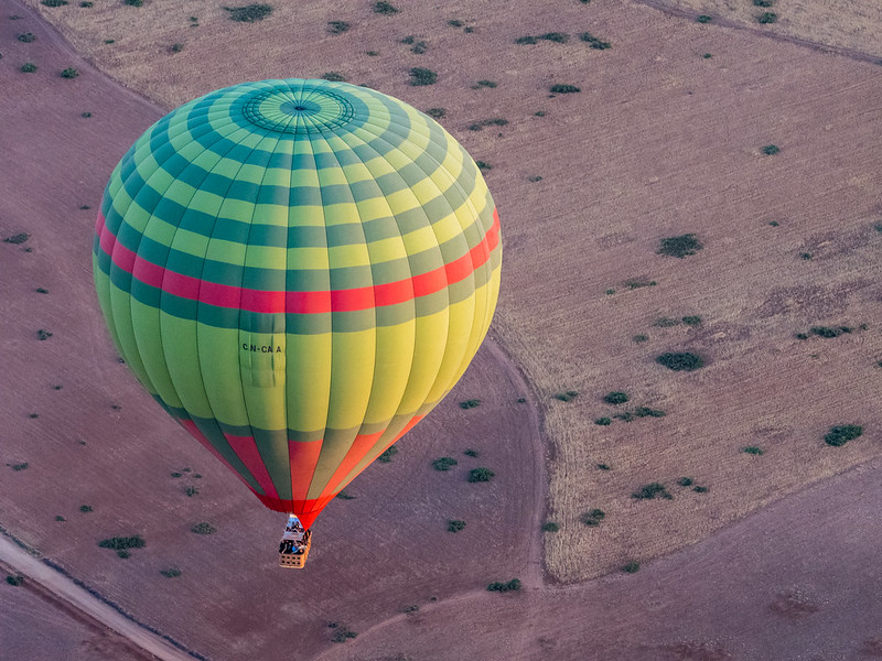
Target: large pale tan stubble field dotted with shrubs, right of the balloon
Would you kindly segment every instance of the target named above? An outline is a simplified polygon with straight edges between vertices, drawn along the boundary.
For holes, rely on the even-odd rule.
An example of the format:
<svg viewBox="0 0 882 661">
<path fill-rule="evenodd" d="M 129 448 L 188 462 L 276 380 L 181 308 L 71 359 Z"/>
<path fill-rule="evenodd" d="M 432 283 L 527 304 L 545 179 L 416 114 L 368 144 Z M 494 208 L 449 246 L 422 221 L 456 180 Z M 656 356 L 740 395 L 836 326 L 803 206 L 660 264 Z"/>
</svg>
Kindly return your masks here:
<svg viewBox="0 0 882 661">
<path fill-rule="evenodd" d="M 166 106 L 240 79 L 341 72 L 447 108 L 442 122 L 493 165 L 507 251 L 496 334 L 544 402 L 558 579 L 696 542 L 879 454 L 878 66 L 628 2 L 401 2 L 395 15 L 280 3 L 255 24 L 228 21 L 219 2 L 174 7 L 180 15 L 159 0 L 40 9 L 96 65 Z M 338 20 L 351 29 L 331 34 Z M 612 47 L 590 48 L 584 31 Z M 569 42 L 514 43 L 550 32 Z M 426 53 L 400 43 L 410 35 Z M 409 86 L 412 66 L 438 71 L 438 84 Z M 556 83 L 582 91 L 551 98 Z M 508 123 L 469 130 L 493 118 Z M 763 155 L 767 144 L 781 152 Z M 686 232 L 704 245 L 698 254 L 656 253 Z M 701 323 L 655 325 L 684 316 Z M 854 332 L 795 338 L 816 325 Z M 654 362 L 679 349 L 708 366 Z M 666 415 L 595 425 L 619 412 L 601 401 L 614 390 L 630 394 L 625 408 Z M 566 391 L 579 395 L 555 399 Z M 851 423 L 863 437 L 824 444 Z M 753 445 L 764 454 L 741 452 Z M 709 490 L 676 486 L 681 477 Z M 674 498 L 631 498 L 655 481 Z M 592 508 L 606 517 L 585 527 Z"/>
</svg>

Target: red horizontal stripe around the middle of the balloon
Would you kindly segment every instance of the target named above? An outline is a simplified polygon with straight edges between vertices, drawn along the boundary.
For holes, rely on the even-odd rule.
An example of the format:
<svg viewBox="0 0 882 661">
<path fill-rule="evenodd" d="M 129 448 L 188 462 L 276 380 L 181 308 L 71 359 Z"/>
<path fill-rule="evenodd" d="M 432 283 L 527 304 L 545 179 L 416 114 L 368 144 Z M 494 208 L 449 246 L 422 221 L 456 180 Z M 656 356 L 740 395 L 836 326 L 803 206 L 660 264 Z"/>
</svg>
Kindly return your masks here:
<svg viewBox="0 0 882 661">
<path fill-rule="evenodd" d="M 499 245 L 499 216 L 494 209 L 493 225 L 481 242 L 466 254 L 443 267 L 397 282 L 331 292 L 263 291 L 198 280 L 138 257 L 116 240 L 105 226 L 100 214 L 96 231 L 100 232 L 101 250 L 111 257 L 114 266 L 131 273 L 140 282 L 169 294 L 248 312 L 315 314 L 396 305 L 440 292 L 449 284 L 465 280 L 475 269 L 490 260 L 491 252 Z"/>
</svg>

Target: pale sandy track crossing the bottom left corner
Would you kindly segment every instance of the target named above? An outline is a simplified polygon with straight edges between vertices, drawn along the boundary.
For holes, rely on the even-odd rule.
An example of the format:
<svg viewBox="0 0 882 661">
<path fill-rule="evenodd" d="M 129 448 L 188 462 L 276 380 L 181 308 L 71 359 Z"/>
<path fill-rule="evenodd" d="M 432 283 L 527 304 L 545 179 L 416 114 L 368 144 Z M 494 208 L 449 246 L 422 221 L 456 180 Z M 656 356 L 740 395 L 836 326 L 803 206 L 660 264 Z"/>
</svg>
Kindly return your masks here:
<svg viewBox="0 0 882 661">
<path fill-rule="evenodd" d="M 0 563 L 8 565 L 29 581 L 35 581 L 53 595 L 63 599 L 80 613 L 88 615 L 101 625 L 123 636 L 138 648 L 163 661 L 192 661 L 193 658 L 169 643 L 161 636 L 151 633 L 137 622 L 120 615 L 104 604 L 71 578 L 46 566 L 28 554 L 6 535 L 0 535 Z"/>
</svg>

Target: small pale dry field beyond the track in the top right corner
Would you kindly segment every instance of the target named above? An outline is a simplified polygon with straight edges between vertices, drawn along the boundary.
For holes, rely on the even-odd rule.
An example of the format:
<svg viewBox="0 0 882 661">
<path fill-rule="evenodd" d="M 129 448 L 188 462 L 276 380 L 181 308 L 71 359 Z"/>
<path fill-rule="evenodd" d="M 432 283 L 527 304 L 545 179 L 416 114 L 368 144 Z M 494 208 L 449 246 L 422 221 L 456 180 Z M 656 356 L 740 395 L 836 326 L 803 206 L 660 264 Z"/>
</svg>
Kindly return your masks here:
<svg viewBox="0 0 882 661">
<path fill-rule="evenodd" d="M 770 2 L 770 0 L 762 0 Z M 821 46 L 838 46 L 882 56 L 882 4 L 865 0 L 648 0 L 648 4 L 700 12 L 713 20 L 731 21 L 763 32 L 790 36 Z M 766 12 L 773 23 L 760 23 Z"/>
</svg>

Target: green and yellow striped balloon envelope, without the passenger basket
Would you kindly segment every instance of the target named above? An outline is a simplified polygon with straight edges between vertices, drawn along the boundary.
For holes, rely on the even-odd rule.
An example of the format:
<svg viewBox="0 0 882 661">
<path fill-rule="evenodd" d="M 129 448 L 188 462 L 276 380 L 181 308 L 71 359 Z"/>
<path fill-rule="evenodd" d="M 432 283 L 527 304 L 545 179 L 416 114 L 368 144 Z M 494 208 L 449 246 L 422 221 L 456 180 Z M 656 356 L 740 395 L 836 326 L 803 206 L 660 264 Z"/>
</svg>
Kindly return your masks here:
<svg viewBox="0 0 882 661">
<path fill-rule="evenodd" d="M 287 531 L 302 524 L 298 543 L 460 379 L 501 260 L 493 198 L 441 126 L 306 79 L 235 85 L 160 119 L 114 170 L 93 248 L 121 357 L 291 514 Z"/>
</svg>

